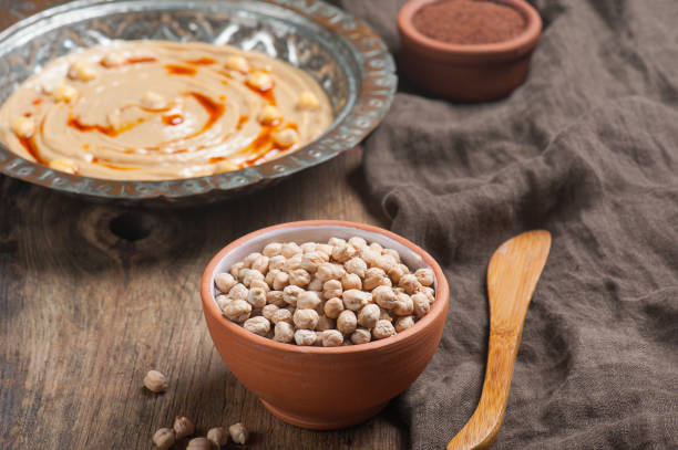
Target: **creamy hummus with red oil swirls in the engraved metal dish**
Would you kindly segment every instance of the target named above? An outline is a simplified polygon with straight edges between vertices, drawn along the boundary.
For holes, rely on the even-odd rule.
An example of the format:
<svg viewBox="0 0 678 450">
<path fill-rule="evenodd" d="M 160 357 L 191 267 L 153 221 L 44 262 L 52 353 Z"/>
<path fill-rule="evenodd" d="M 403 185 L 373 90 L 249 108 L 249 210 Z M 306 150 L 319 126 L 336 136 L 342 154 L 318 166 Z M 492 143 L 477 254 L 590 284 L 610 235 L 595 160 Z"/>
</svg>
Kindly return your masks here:
<svg viewBox="0 0 678 450">
<path fill-rule="evenodd" d="M 294 151 L 331 124 L 300 69 L 228 45 L 113 42 L 61 56 L 0 108 L 0 140 L 54 169 L 164 180 Z"/>
</svg>

